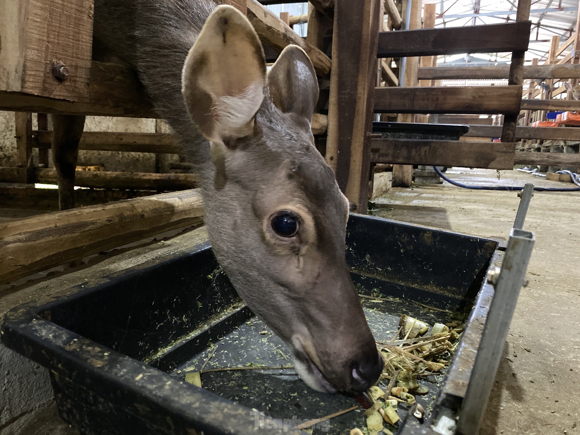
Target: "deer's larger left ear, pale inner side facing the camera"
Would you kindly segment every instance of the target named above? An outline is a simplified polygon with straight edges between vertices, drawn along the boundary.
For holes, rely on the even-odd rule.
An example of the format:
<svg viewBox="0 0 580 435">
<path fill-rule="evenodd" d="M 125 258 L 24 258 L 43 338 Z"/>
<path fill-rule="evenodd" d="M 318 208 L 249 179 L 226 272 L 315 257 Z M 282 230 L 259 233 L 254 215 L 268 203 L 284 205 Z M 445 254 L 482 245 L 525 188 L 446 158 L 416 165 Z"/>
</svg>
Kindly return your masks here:
<svg viewBox="0 0 580 435">
<path fill-rule="evenodd" d="M 264 50 L 252 24 L 232 6 L 218 6 L 183 66 L 182 93 L 191 119 L 211 142 L 247 136 L 265 84 Z"/>
</svg>

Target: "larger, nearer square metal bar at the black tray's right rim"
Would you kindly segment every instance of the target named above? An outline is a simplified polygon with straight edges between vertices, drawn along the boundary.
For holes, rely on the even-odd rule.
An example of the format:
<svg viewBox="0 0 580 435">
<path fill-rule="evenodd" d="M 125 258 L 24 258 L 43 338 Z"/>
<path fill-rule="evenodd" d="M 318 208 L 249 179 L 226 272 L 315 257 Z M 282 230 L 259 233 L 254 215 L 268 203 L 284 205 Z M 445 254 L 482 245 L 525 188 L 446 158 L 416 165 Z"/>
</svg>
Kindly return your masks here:
<svg viewBox="0 0 580 435">
<path fill-rule="evenodd" d="M 479 432 L 534 241 L 534 234 L 513 228 L 501 271 L 488 276 L 495 293 L 459 412 L 458 433 L 463 435 Z"/>
</svg>

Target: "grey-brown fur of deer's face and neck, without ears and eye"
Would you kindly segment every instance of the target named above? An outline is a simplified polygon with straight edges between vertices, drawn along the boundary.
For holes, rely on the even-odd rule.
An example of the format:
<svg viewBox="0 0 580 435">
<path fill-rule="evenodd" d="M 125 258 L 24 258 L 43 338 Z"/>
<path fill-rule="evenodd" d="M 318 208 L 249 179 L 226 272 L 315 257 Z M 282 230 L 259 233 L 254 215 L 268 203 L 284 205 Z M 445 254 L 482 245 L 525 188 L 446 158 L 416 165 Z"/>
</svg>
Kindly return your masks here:
<svg viewBox="0 0 580 435">
<path fill-rule="evenodd" d="M 266 89 L 253 134 L 229 144 L 226 186 L 214 187 L 209 143 L 189 118 L 181 93 L 184 60 L 213 8 L 207 0 L 96 0 L 95 46 L 135 68 L 158 113 L 180 138 L 201 176 L 213 251 L 240 296 L 303 364 L 313 356 L 296 345 L 296 336 L 311 342 L 332 389 L 365 389 L 367 383 L 353 379 L 353 369 L 372 383 L 382 360 L 346 266 L 347 202 L 314 147 L 309 119 L 282 113 Z M 300 81 L 316 77 L 293 79 L 295 89 L 284 95 L 312 98 L 302 89 L 317 86 Z M 264 239 L 269 218 L 260 213 L 269 201 L 282 209 L 285 202 L 299 202 L 311 215 L 316 240 L 305 264 Z"/>
</svg>

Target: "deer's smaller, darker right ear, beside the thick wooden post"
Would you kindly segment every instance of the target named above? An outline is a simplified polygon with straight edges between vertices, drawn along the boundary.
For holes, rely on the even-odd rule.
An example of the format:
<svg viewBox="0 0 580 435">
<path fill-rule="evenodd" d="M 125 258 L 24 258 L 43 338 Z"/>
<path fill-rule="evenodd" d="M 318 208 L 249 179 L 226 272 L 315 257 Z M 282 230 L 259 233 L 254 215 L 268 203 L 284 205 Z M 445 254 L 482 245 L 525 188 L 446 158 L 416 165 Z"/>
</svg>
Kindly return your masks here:
<svg viewBox="0 0 580 435">
<path fill-rule="evenodd" d="M 288 45 L 268 73 L 270 95 L 283 113 L 295 113 L 310 123 L 318 101 L 318 80 L 305 51 Z"/>
</svg>

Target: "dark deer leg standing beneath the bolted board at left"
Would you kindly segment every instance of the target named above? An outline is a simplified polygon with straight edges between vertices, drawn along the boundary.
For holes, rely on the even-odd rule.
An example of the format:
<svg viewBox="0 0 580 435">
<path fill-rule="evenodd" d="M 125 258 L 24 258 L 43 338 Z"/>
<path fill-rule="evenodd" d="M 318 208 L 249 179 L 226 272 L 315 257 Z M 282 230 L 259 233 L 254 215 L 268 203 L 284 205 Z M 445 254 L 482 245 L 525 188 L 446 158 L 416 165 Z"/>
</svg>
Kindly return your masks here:
<svg viewBox="0 0 580 435">
<path fill-rule="evenodd" d="M 85 127 L 85 117 L 53 115 L 52 158 L 59 180 L 59 209 L 74 208 L 74 179 L 78 143 Z"/>
</svg>

